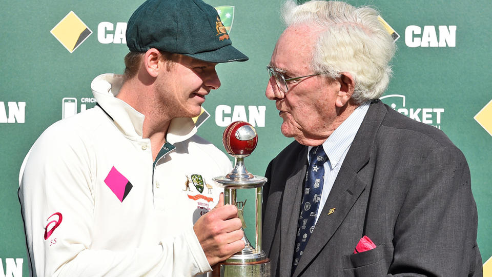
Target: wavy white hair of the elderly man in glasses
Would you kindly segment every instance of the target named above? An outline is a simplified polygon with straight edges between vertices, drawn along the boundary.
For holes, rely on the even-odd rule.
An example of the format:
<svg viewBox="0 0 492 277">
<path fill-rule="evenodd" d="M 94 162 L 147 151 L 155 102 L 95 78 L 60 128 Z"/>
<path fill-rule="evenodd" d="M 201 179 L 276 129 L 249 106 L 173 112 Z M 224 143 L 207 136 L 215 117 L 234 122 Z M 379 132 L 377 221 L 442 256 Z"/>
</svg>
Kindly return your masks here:
<svg viewBox="0 0 492 277">
<path fill-rule="evenodd" d="M 283 5 L 282 17 L 289 26 L 319 28 L 311 69 L 335 79 L 349 72 L 355 79 L 352 98 L 357 103 L 379 98 L 392 75 L 391 58 L 396 46 L 370 7 L 356 8 L 343 2 L 310 1 Z"/>
</svg>

